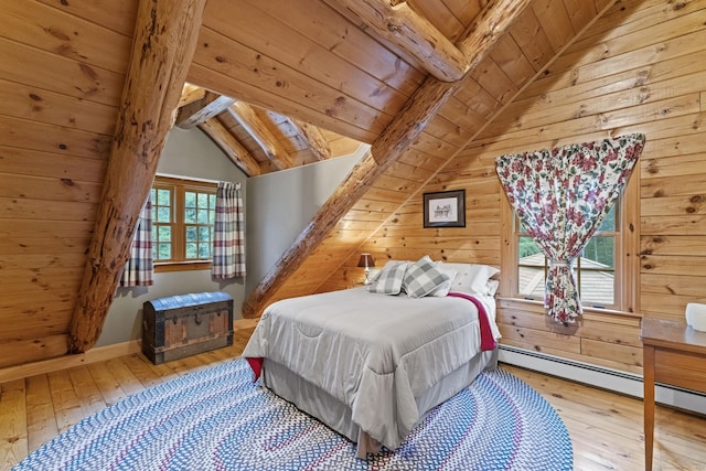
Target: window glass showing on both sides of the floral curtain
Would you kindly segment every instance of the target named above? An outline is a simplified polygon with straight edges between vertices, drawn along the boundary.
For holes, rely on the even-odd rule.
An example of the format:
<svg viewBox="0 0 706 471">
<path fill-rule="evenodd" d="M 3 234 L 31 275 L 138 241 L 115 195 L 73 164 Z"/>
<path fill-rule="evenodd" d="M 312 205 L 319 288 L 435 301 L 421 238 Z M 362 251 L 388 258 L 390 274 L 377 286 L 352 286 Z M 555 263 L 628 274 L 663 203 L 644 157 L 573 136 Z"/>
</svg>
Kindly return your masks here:
<svg viewBox="0 0 706 471">
<path fill-rule="evenodd" d="M 616 260 L 620 244 L 617 203 L 586 244 L 580 257 L 574 261 L 579 296 L 584 306 L 613 308 L 616 299 Z M 517 295 L 530 299 L 544 299 L 544 285 L 548 260 L 515 216 L 517 242 Z"/>
</svg>

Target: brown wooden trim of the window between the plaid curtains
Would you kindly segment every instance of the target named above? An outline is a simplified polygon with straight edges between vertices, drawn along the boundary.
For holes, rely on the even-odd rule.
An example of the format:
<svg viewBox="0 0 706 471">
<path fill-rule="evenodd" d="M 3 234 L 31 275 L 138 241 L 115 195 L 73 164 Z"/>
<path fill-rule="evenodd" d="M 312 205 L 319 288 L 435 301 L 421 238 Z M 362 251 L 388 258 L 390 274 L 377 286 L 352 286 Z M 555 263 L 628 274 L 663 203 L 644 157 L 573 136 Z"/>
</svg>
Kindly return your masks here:
<svg viewBox="0 0 706 471">
<path fill-rule="evenodd" d="M 151 189 L 170 188 L 172 193 L 172 260 L 158 261 L 154 260 L 154 272 L 172 272 L 189 270 L 210 270 L 211 260 L 186 260 L 181 257 L 174 257 L 178 253 L 185 253 L 185 232 L 184 232 L 184 213 L 185 213 L 185 192 L 197 191 L 201 193 L 216 194 L 216 182 L 191 180 L 185 178 L 156 175 Z M 153 231 L 157 231 L 158 223 L 152 221 Z"/>
</svg>

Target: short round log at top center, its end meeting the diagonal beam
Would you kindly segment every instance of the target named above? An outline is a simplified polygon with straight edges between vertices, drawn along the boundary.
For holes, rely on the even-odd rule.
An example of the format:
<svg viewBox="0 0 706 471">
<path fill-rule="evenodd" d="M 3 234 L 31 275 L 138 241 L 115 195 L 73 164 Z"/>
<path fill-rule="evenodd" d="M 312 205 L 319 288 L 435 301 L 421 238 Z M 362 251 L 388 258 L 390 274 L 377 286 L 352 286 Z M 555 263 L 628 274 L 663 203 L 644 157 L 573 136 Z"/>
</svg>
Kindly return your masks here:
<svg viewBox="0 0 706 471">
<path fill-rule="evenodd" d="M 367 26 L 414 55 L 435 77 L 458 81 L 469 69 L 467 56 L 407 2 L 338 0 Z"/>
</svg>

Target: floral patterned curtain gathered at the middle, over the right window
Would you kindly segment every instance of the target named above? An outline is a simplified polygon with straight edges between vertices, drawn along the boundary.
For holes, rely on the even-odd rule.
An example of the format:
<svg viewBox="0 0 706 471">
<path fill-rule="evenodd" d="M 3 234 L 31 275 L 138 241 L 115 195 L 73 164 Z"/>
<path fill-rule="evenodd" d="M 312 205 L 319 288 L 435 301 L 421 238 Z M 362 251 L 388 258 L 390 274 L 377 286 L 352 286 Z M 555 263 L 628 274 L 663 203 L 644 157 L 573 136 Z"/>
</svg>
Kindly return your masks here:
<svg viewBox="0 0 706 471">
<path fill-rule="evenodd" d="M 644 139 L 627 135 L 495 161 L 510 204 L 549 259 L 544 306 L 557 322 L 581 313 L 571 264 L 628 183 Z"/>
</svg>

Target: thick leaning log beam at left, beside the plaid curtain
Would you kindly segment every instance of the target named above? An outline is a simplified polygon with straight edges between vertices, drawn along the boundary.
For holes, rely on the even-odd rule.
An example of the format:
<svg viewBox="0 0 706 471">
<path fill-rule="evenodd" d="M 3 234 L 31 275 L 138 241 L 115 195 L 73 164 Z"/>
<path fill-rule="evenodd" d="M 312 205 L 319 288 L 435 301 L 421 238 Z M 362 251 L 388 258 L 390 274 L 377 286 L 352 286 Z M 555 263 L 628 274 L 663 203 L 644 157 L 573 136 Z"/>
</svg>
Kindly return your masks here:
<svg viewBox="0 0 706 471">
<path fill-rule="evenodd" d="M 141 0 L 110 161 L 71 323 L 68 352 L 95 345 L 152 186 L 196 49 L 206 0 Z"/>
</svg>

